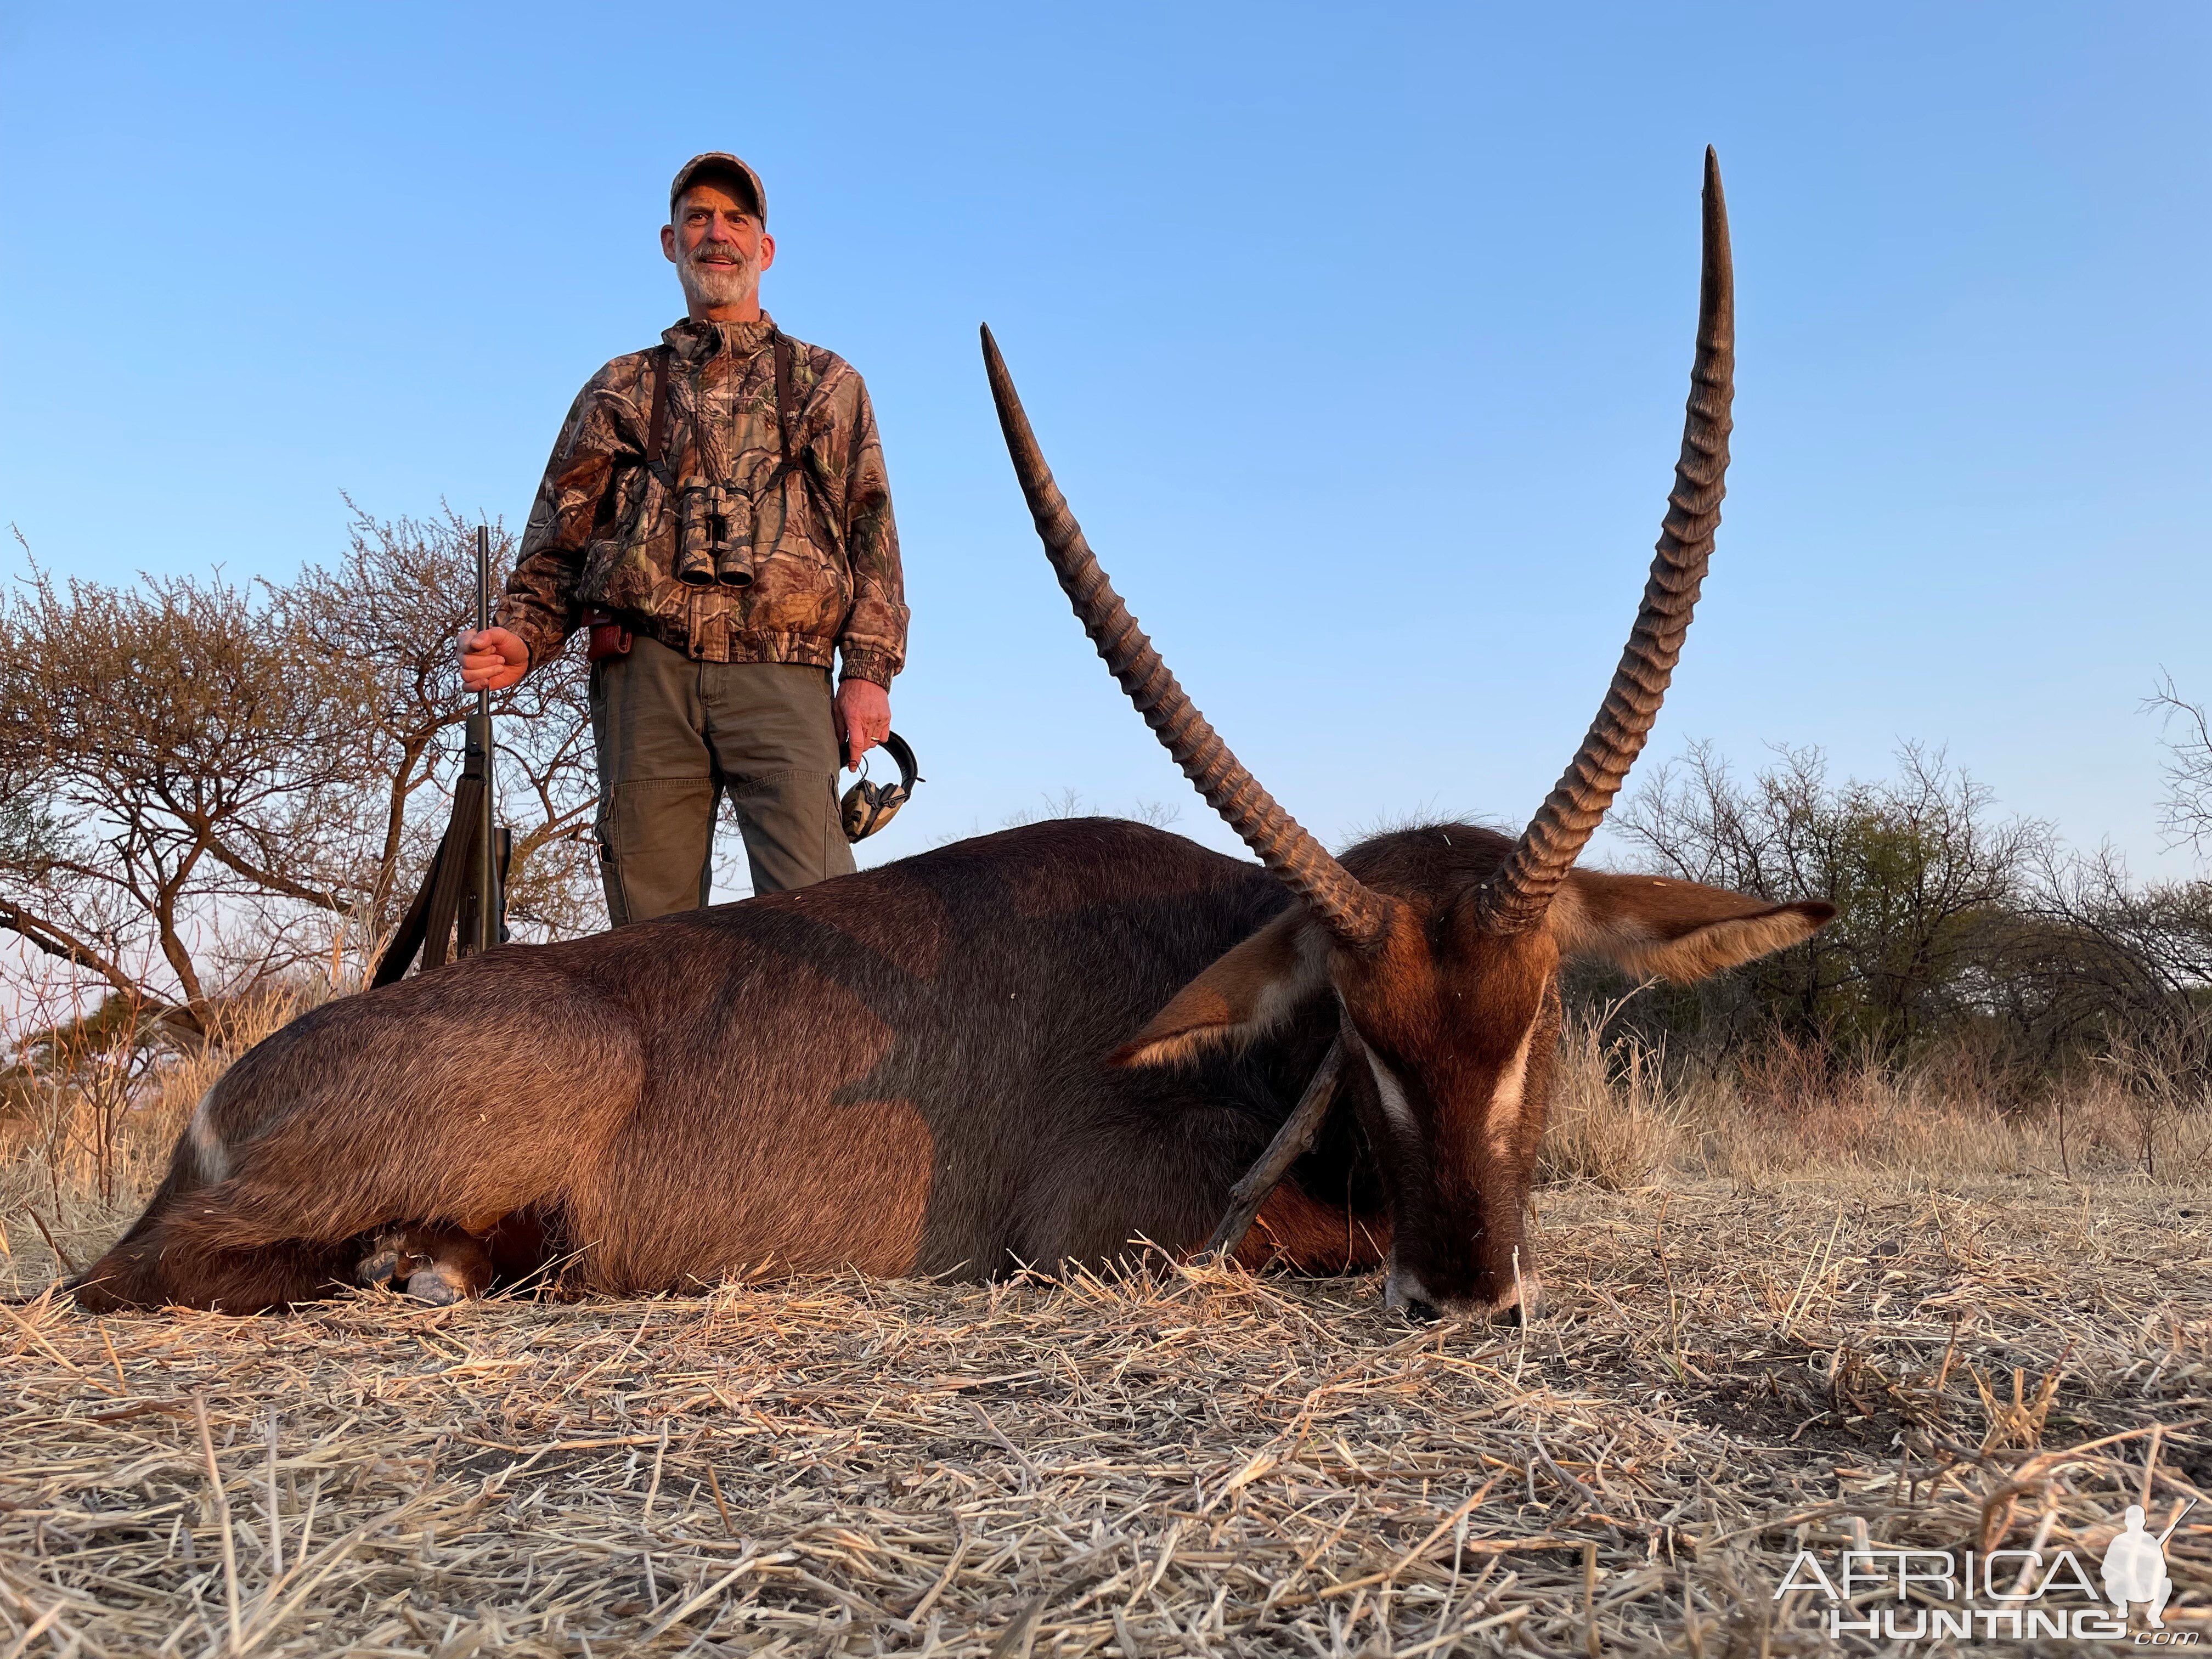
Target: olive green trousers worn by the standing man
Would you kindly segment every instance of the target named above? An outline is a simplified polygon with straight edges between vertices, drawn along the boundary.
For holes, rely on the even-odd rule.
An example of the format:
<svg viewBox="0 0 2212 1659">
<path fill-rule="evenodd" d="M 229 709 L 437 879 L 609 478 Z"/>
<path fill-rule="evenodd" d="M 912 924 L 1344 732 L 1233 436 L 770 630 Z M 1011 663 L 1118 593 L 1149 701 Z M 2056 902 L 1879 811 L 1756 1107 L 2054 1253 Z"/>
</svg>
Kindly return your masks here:
<svg viewBox="0 0 2212 1659">
<path fill-rule="evenodd" d="M 591 734 L 611 925 L 706 905 L 726 794 L 754 894 L 852 872 L 827 668 L 692 661 L 637 635 L 628 655 L 593 664 Z"/>
</svg>

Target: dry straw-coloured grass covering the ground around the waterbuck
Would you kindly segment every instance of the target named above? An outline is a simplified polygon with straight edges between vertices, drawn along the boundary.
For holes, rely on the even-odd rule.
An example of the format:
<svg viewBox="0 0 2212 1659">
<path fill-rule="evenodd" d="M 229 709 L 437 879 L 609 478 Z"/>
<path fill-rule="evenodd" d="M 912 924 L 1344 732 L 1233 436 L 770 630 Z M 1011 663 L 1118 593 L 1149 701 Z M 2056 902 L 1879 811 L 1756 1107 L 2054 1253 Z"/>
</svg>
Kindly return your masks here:
<svg viewBox="0 0 2212 1659">
<path fill-rule="evenodd" d="M 1526 1334 L 1177 1267 L 9 1310 L 0 1659 L 1825 1652 L 1801 1546 L 2101 1551 L 2212 1486 L 2212 1203 L 2132 1119 L 2077 1110 L 2068 1181 L 1971 1099 L 1661 1073 L 1571 1048 Z M 53 1183 L 4 1175 L 35 1290 Z M 2168 1557 L 2203 1628 L 2212 1502 Z"/>
</svg>

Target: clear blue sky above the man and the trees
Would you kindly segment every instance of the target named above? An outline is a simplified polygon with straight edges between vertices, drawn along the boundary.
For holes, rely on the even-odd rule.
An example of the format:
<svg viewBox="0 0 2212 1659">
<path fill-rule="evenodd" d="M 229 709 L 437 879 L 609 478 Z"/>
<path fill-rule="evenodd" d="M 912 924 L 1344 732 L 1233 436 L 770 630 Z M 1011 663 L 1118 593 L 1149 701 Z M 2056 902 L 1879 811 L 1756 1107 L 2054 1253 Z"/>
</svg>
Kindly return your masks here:
<svg viewBox="0 0 2212 1659">
<path fill-rule="evenodd" d="M 734 148 L 887 440 L 929 785 L 872 849 L 1064 790 L 1223 841 L 1037 553 L 978 321 L 1307 825 L 1517 825 L 1650 560 L 1710 142 L 1736 462 L 1652 757 L 1947 745 L 2181 874 L 2139 701 L 2212 697 L 2208 69 L 2194 4 L 13 4 L 0 520 L 108 580 L 288 573 L 341 491 L 520 520 Z"/>
</svg>

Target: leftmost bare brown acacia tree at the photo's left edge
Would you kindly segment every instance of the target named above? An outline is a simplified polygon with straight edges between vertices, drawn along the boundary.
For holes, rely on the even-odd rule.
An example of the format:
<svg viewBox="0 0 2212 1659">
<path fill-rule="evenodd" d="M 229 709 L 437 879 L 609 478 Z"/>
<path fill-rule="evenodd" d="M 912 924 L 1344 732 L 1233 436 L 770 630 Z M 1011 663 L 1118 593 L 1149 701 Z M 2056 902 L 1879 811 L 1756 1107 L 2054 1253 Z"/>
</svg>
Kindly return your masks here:
<svg viewBox="0 0 2212 1659">
<path fill-rule="evenodd" d="M 301 741 L 319 695 L 270 639 L 268 595 L 219 575 L 33 566 L 0 599 L 0 772 L 22 801 L 0 927 L 119 995 L 153 989 L 179 1031 L 206 1029 L 239 920 L 354 898 L 319 880 L 332 836 L 303 810 L 343 761 Z"/>
</svg>

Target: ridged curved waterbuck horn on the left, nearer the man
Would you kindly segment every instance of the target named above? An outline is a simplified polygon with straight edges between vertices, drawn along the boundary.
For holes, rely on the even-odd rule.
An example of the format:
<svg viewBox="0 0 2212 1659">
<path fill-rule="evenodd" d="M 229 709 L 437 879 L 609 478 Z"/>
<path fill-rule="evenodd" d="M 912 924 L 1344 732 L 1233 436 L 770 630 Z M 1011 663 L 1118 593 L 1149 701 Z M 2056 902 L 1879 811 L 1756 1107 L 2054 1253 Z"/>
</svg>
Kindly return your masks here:
<svg viewBox="0 0 2212 1659">
<path fill-rule="evenodd" d="M 1243 836 L 1259 860 L 1303 898 L 1336 938 L 1354 949 L 1374 947 L 1383 938 L 1389 902 L 1354 880 L 1296 818 L 1283 812 L 1190 703 L 1091 553 L 1082 524 L 1053 482 L 1053 469 L 1044 465 L 1044 451 L 1037 449 L 1029 416 L 1022 414 L 1022 398 L 989 327 L 982 332 L 982 361 L 991 374 L 998 425 L 1006 431 L 1013 471 L 1022 480 L 1022 495 L 1029 498 L 1029 513 L 1037 520 L 1044 555 L 1053 562 L 1060 586 L 1066 588 L 1075 617 L 1099 648 L 1106 668 L 1183 768 L 1183 776 L 1199 785 L 1206 803 Z"/>
</svg>

